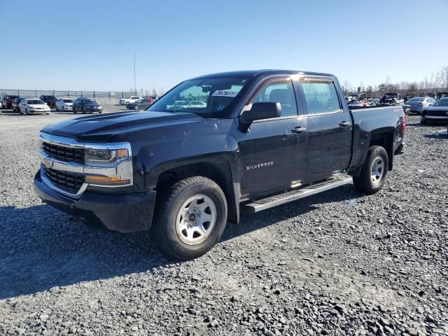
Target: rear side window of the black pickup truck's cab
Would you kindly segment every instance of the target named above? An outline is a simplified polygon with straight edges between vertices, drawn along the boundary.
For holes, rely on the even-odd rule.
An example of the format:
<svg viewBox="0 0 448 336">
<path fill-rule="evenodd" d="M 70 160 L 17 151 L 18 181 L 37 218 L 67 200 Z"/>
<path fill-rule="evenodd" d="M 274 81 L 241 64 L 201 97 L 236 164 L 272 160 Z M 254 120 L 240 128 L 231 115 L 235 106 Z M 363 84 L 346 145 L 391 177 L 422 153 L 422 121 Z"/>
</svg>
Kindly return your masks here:
<svg viewBox="0 0 448 336">
<path fill-rule="evenodd" d="M 335 84 L 328 81 L 302 81 L 308 114 L 337 112 L 341 109 Z"/>
</svg>

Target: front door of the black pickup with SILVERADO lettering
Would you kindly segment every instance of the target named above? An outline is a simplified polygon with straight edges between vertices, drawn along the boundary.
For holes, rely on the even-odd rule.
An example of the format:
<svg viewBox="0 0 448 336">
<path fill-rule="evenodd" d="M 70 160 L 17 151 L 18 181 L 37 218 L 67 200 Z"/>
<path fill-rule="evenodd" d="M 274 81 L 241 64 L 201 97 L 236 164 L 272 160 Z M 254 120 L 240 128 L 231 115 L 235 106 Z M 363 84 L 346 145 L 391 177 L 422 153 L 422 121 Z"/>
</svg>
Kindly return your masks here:
<svg viewBox="0 0 448 336">
<path fill-rule="evenodd" d="M 289 76 L 261 83 L 249 104 L 254 102 L 279 102 L 281 116 L 255 120 L 247 132 L 239 134 L 242 197 L 300 185 L 307 172 L 306 120 L 299 119 L 295 89 Z"/>
</svg>

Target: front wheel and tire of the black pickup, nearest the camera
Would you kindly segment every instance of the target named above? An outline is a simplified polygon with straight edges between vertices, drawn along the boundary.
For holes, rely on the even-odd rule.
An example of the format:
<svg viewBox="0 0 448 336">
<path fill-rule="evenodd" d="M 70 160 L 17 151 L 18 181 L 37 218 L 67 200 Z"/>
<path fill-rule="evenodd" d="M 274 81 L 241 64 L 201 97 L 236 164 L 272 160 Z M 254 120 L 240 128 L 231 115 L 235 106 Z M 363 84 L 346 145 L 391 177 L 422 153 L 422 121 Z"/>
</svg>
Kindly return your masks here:
<svg viewBox="0 0 448 336">
<path fill-rule="evenodd" d="M 203 176 L 164 189 L 151 227 L 154 243 L 169 258 L 189 260 L 204 255 L 221 238 L 227 223 L 223 190 Z"/>
</svg>

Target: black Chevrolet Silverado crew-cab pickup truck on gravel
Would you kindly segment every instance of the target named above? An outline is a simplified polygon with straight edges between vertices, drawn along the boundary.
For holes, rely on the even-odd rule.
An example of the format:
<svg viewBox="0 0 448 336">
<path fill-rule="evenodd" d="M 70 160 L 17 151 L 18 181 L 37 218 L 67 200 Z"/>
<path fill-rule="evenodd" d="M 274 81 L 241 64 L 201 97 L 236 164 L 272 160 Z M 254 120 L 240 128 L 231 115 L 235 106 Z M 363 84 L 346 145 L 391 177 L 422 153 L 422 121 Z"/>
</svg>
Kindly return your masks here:
<svg viewBox="0 0 448 336">
<path fill-rule="evenodd" d="M 174 105 L 187 97 L 204 106 Z M 376 193 L 404 132 L 401 106 L 351 111 L 330 74 L 217 73 L 184 81 L 144 112 L 44 127 L 34 189 L 110 230 L 151 230 L 162 253 L 188 260 L 238 223 L 240 209 L 352 182 Z"/>
</svg>

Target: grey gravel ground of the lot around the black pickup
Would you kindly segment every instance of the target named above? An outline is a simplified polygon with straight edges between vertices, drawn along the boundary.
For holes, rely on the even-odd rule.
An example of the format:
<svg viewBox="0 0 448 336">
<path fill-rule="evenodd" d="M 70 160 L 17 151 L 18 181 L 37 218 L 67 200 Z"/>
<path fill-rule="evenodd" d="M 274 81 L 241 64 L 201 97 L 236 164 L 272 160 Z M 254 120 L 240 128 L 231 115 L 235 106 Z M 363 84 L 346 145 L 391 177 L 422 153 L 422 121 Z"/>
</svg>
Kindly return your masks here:
<svg viewBox="0 0 448 336">
<path fill-rule="evenodd" d="M 5 113 L 6 114 L 6 113 Z M 38 130 L 0 117 L 0 335 L 447 335 L 448 137 L 409 117 L 386 186 L 242 214 L 197 260 L 42 204 Z"/>
</svg>

